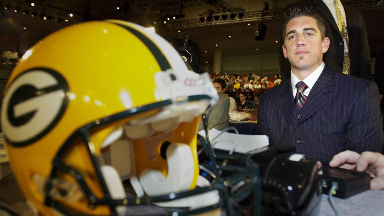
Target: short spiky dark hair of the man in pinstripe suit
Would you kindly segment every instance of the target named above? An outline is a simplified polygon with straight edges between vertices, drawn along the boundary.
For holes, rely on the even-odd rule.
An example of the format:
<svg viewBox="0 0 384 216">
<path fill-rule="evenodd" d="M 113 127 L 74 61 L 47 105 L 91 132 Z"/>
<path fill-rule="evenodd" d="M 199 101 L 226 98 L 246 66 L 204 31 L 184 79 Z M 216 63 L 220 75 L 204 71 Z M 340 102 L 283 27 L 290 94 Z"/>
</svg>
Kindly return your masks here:
<svg viewBox="0 0 384 216">
<path fill-rule="evenodd" d="M 284 24 L 283 24 L 283 43 L 285 44 L 285 39 L 286 39 L 286 27 L 288 25 L 288 22 L 290 22 L 293 18 L 298 18 L 298 17 L 312 17 L 316 20 L 317 27 L 320 30 L 321 33 L 321 40 L 324 40 L 325 38 L 325 24 L 323 18 L 319 15 L 318 12 L 316 12 L 312 7 L 293 7 L 289 8 L 288 13 L 284 13 Z"/>
</svg>

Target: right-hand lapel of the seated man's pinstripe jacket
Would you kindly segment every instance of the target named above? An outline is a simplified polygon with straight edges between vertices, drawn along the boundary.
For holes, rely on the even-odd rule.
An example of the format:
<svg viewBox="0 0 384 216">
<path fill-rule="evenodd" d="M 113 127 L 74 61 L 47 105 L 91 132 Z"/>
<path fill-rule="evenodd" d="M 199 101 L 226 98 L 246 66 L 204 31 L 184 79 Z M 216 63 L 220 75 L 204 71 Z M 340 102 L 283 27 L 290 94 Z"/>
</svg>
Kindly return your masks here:
<svg viewBox="0 0 384 216">
<path fill-rule="evenodd" d="M 333 91 L 333 75 L 333 72 L 331 72 L 329 68 L 324 67 L 324 70 L 321 72 L 321 75 L 311 89 L 305 104 L 301 108 L 302 110 L 300 118 L 298 118 L 298 124 L 308 119 L 328 103 L 328 100 L 325 98 L 325 93 Z"/>
</svg>

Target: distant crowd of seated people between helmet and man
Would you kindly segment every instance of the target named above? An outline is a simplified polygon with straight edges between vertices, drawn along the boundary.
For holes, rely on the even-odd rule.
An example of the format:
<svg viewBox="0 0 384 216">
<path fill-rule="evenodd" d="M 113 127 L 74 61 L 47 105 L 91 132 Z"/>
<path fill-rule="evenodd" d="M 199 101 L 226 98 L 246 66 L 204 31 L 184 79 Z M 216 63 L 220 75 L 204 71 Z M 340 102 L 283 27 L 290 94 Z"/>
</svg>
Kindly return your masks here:
<svg viewBox="0 0 384 216">
<path fill-rule="evenodd" d="M 257 110 L 258 97 L 265 91 L 280 85 L 280 74 L 275 72 L 274 75 L 268 73 L 248 73 L 248 74 L 233 74 L 219 73 L 212 74 L 212 80 L 222 78 L 227 84 L 225 95 L 235 99 L 238 108 L 244 108 L 245 101 L 247 102 L 247 109 Z M 242 98 L 245 96 L 245 98 Z M 241 99 L 243 101 L 241 101 Z"/>
</svg>

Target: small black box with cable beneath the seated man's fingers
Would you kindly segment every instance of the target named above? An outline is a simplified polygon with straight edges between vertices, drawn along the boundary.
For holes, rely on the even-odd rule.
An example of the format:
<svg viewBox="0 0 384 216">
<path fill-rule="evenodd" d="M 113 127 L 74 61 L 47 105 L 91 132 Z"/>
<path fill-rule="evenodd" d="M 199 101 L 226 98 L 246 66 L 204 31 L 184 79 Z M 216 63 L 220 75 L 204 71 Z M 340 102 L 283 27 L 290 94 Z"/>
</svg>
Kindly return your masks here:
<svg viewBox="0 0 384 216">
<path fill-rule="evenodd" d="M 333 196 L 343 199 L 369 189 L 371 176 L 368 173 L 343 168 L 325 168 L 323 172 L 324 194 L 328 194 L 334 185 Z"/>
</svg>

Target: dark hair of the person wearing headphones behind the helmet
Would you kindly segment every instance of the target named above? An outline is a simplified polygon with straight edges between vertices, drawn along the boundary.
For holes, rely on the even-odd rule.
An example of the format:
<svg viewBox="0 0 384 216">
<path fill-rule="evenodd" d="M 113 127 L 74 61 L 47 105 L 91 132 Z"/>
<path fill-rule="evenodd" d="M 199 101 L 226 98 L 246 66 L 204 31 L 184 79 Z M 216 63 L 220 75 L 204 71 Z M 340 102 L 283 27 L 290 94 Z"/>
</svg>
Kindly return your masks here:
<svg viewBox="0 0 384 216">
<path fill-rule="evenodd" d="M 180 39 L 178 37 L 172 37 L 168 39 L 168 42 L 172 44 L 172 46 L 177 50 L 183 50 L 184 49 L 184 40 Z M 200 72 L 200 65 L 201 65 L 201 51 L 199 48 L 199 45 L 193 41 L 189 41 L 187 43 L 186 49 L 192 57 L 192 63 L 190 63 L 190 66 L 192 67 L 193 71 L 196 73 Z"/>
</svg>

